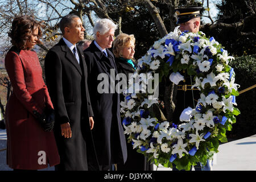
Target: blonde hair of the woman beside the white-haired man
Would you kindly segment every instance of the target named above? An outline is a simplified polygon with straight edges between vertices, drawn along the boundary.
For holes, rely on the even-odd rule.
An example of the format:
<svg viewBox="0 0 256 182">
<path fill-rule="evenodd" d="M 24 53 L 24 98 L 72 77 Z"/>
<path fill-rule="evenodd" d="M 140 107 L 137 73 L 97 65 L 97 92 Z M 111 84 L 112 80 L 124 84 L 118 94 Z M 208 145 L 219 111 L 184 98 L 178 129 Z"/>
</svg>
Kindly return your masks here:
<svg viewBox="0 0 256 182">
<path fill-rule="evenodd" d="M 113 41 L 113 53 L 115 57 L 122 57 L 123 47 L 128 46 L 131 42 L 135 43 L 133 34 L 119 34 Z"/>
</svg>

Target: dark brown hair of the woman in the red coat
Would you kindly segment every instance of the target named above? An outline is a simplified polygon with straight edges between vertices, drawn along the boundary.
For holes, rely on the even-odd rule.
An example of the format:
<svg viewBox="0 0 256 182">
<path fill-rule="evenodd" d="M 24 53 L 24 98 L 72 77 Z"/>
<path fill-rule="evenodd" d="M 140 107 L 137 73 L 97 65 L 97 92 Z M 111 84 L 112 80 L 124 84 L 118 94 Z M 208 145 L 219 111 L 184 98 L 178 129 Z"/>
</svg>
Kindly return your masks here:
<svg viewBox="0 0 256 182">
<path fill-rule="evenodd" d="M 11 43 L 18 49 L 27 49 L 27 41 L 30 40 L 32 32 L 38 28 L 38 41 L 36 44 L 42 44 L 39 38 L 42 37 L 42 23 L 36 21 L 31 16 L 19 15 L 16 16 L 11 24 L 11 30 L 8 33 L 11 38 Z"/>
</svg>

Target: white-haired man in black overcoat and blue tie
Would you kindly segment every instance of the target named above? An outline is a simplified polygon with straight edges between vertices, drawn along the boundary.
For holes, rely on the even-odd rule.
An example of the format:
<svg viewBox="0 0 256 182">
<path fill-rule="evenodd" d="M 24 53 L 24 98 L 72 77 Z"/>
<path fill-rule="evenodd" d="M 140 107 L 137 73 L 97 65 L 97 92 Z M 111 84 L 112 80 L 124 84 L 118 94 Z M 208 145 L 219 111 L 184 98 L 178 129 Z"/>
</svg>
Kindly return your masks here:
<svg viewBox="0 0 256 182">
<path fill-rule="evenodd" d="M 117 67 L 114 55 L 108 48 L 112 47 L 116 28 L 117 26 L 109 19 L 98 20 L 93 28 L 95 40 L 84 51 L 95 121 L 92 134 L 101 170 L 109 170 L 113 164 L 125 163 L 127 159 L 125 135 L 120 118 L 119 94 L 115 92 L 115 87 L 110 88 L 113 84 L 115 86 L 115 78 L 111 79 L 111 77 L 117 75 Z M 108 88 L 104 88 L 106 92 L 103 93 L 98 90 L 98 85 L 102 81 L 101 78 L 98 80 L 98 75 L 101 73 L 108 77 L 109 85 Z M 94 166 L 95 164 L 92 164 L 90 168 L 94 170 Z"/>
</svg>

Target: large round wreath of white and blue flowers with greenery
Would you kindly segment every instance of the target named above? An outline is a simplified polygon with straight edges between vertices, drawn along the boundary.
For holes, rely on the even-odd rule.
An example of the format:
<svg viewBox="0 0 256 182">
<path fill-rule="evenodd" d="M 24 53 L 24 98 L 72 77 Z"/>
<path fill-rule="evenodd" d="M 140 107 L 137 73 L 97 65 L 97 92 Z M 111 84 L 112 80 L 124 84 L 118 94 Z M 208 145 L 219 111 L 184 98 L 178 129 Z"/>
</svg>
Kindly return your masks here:
<svg viewBox="0 0 256 182">
<path fill-rule="evenodd" d="M 200 90 L 196 108 L 188 107 L 181 113 L 183 123 L 179 126 L 161 121 L 152 110 L 154 105 L 160 105 L 159 100 L 146 91 L 125 94 L 121 113 L 128 142 L 137 152 L 156 166 L 172 168 L 175 164 L 177 169 L 189 170 L 197 162 L 205 165 L 218 152 L 219 140 L 227 142 L 226 130 L 232 129 L 235 115 L 240 114 L 234 107 L 239 85 L 234 83 L 235 73 L 229 66 L 234 57 L 228 56 L 221 44 L 203 32 L 180 32 L 178 28 L 155 42 L 138 60 L 139 68 L 129 82 L 142 73 L 158 73 L 159 81 L 170 76 L 178 84 L 183 80 L 179 72 L 186 70 L 194 76 L 192 88 Z M 140 88 L 148 79 L 154 77 L 138 79 Z"/>
</svg>

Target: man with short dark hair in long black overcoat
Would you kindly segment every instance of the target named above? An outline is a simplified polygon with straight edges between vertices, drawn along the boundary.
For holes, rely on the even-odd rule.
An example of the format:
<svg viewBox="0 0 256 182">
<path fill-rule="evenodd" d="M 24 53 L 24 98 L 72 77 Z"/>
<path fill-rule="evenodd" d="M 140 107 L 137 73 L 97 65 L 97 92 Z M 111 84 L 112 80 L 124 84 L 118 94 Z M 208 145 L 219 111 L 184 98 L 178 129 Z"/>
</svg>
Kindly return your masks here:
<svg viewBox="0 0 256 182">
<path fill-rule="evenodd" d="M 87 67 L 81 48 L 76 46 L 84 39 L 85 29 L 79 16 L 67 15 L 60 20 L 60 30 L 63 38 L 49 50 L 45 59 L 47 87 L 56 112 L 54 133 L 60 154 L 60 164 L 55 170 L 88 170 L 88 160 L 97 163 L 91 133 L 94 121 Z"/>
</svg>

